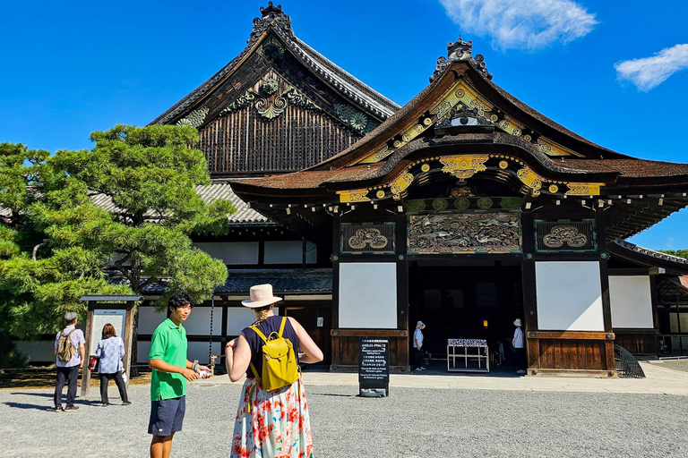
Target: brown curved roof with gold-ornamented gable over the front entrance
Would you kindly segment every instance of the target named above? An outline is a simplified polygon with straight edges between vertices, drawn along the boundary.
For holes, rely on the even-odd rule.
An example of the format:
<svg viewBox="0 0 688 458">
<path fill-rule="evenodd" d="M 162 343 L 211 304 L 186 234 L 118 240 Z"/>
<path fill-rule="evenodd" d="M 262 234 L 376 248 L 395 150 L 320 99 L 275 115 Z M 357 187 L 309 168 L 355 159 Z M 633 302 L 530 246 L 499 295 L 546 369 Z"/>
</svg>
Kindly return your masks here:
<svg viewBox="0 0 688 458">
<path fill-rule="evenodd" d="M 236 193 L 256 206 L 380 202 L 403 200 L 438 176 L 475 175 L 533 198 L 598 199 L 610 240 L 688 205 L 688 165 L 585 140 L 498 88 L 470 42 L 459 39 L 448 51 L 426 89 L 351 147 L 301 172 L 234 181 Z"/>
</svg>

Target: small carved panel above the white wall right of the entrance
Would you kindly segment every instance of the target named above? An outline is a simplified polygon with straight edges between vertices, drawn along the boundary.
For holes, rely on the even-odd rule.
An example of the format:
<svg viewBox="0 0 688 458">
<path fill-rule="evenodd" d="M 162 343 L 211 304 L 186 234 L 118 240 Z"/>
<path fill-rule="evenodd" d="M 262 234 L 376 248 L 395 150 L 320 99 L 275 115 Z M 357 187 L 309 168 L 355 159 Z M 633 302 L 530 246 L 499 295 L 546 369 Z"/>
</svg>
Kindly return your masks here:
<svg viewBox="0 0 688 458">
<path fill-rule="evenodd" d="M 593 220 L 536 221 L 538 251 L 596 251 L 597 234 Z"/>
</svg>

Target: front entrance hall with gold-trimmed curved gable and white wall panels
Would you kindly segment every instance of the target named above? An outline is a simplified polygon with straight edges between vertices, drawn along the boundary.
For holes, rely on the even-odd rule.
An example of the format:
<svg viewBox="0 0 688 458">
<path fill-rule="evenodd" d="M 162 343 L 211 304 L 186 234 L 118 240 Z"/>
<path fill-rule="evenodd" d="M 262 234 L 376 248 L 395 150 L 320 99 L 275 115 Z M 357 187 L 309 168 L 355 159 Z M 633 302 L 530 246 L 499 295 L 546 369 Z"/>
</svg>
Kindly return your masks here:
<svg viewBox="0 0 688 458">
<path fill-rule="evenodd" d="M 615 344 L 683 351 L 671 334 L 686 325 L 688 261 L 624 239 L 688 205 L 688 165 L 568 131 L 495 85 L 460 38 L 430 81 L 319 164 L 232 181 L 262 215 L 331 243 L 331 369 L 356 367 L 361 335 L 388 337 L 392 366 L 409 369 L 418 319 L 443 354 L 522 318 L 529 374 L 614 376 Z"/>
</svg>

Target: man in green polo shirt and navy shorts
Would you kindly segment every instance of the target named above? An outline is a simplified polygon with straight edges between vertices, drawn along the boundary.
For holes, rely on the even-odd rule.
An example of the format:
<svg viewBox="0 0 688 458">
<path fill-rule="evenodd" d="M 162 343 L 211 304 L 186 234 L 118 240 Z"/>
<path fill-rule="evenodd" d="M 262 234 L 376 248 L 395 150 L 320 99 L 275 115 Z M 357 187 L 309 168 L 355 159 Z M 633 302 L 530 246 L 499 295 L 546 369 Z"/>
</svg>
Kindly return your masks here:
<svg viewBox="0 0 688 458">
<path fill-rule="evenodd" d="M 172 437 L 182 430 L 186 411 L 186 380 L 199 377 L 208 370 L 186 359 L 186 330 L 182 321 L 189 318 L 193 299 L 188 293 L 177 292 L 168 301 L 169 318 L 160 323 L 150 339 L 150 422 L 148 432 L 150 458 L 168 458 Z"/>
</svg>

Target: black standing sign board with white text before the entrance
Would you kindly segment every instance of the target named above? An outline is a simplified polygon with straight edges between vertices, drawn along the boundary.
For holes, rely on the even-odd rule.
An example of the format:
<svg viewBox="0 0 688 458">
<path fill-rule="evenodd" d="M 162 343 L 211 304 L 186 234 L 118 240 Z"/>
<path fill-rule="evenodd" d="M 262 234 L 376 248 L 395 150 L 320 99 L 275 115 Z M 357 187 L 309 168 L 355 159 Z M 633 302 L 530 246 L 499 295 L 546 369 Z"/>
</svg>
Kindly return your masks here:
<svg viewBox="0 0 688 458">
<path fill-rule="evenodd" d="M 358 341 L 358 392 L 385 390 L 390 395 L 390 339 L 361 337 Z"/>
</svg>

